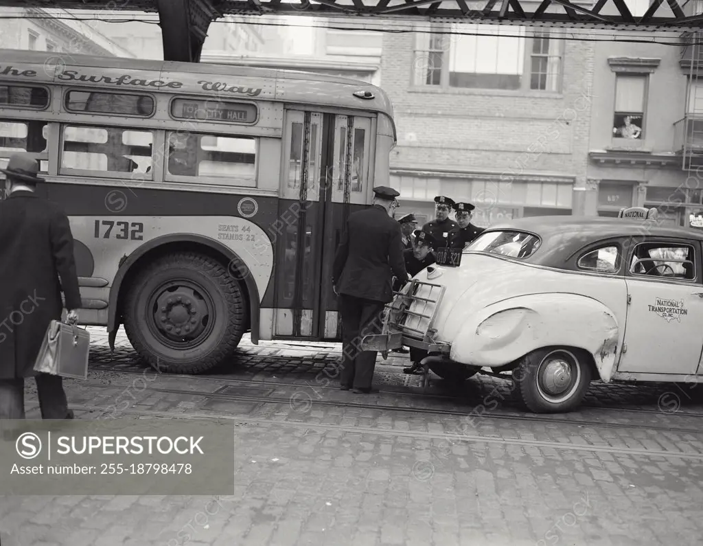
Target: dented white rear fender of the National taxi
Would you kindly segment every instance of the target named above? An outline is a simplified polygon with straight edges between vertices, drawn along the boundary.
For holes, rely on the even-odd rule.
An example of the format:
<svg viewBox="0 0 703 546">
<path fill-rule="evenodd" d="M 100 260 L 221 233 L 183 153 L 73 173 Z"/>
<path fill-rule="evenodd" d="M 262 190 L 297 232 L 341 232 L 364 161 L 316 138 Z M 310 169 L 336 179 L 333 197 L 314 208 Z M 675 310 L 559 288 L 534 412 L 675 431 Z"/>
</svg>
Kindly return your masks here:
<svg viewBox="0 0 703 546">
<path fill-rule="evenodd" d="M 600 301 L 573 293 L 517 296 L 465 317 L 451 341 L 451 360 L 500 367 L 553 345 L 587 350 L 602 381 L 610 381 L 620 337 L 613 312 Z"/>
</svg>

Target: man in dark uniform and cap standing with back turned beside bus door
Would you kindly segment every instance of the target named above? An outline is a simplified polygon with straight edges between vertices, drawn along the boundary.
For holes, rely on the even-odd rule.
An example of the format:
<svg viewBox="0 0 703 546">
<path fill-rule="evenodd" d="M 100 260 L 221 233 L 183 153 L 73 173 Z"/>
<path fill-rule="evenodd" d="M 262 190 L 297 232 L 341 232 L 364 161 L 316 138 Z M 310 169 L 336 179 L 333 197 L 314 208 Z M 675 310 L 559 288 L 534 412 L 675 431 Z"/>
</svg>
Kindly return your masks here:
<svg viewBox="0 0 703 546">
<path fill-rule="evenodd" d="M 373 206 L 349 215 L 335 254 L 332 282 L 342 317 L 340 388 L 373 392 L 376 351 L 359 351 L 363 336 L 379 334 L 385 304 L 393 299 L 392 278 L 408 280 L 400 224 L 392 211 L 400 194 L 386 186 L 373 189 Z"/>
</svg>

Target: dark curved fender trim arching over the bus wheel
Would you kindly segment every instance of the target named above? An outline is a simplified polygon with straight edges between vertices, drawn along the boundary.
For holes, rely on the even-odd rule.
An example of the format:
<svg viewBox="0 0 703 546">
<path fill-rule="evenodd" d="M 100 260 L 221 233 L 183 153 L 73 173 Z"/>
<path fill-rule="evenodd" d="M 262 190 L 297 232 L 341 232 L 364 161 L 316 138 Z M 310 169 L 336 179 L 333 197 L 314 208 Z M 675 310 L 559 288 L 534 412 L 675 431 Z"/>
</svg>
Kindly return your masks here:
<svg viewBox="0 0 703 546">
<path fill-rule="evenodd" d="M 169 234 L 157 237 L 144 243 L 142 246 L 134 250 L 127 259 L 124 258 L 120 260 L 120 269 L 117 269 L 117 274 L 115 274 L 115 279 L 112 281 L 112 286 L 110 286 L 110 306 L 108 307 L 108 341 L 110 343 L 110 350 L 115 350 L 115 336 L 117 336 L 117 329 L 120 328 L 120 321 L 117 319 L 117 300 L 120 296 L 120 286 L 122 286 L 122 281 L 124 277 L 127 276 L 127 272 L 131 267 L 146 253 L 151 250 L 155 250 L 160 246 L 169 243 L 198 243 L 203 246 L 207 246 L 212 250 L 224 255 L 228 260 L 228 264 L 240 267 L 243 272 L 247 272 L 247 265 L 244 260 L 242 260 L 231 248 L 218 243 L 214 239 L 205 237 L 197 234 Z M 251 321 L 251 338 L 254 345 L 259 343 L 259 289 L 257 288 L 254 279 L 249 274 L 243 273 L 241 275 L 243 281 L 249 292 L 249 317 Z"/>
</svg>

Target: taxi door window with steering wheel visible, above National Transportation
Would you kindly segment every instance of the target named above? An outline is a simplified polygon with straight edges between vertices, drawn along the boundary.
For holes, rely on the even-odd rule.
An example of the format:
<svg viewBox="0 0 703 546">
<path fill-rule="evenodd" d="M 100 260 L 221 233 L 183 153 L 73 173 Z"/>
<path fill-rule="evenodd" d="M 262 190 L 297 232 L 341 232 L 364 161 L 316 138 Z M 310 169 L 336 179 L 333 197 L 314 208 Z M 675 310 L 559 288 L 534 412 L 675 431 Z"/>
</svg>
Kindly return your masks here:
<svg viewBox="0 0 703 546">
<path fill-rule="evenodd" d="M 640 243 L 632 255 L 630 272 L 638 277 L 692 281 L 696 278 L 695 250 L 683 244 Z"/>
</svg>

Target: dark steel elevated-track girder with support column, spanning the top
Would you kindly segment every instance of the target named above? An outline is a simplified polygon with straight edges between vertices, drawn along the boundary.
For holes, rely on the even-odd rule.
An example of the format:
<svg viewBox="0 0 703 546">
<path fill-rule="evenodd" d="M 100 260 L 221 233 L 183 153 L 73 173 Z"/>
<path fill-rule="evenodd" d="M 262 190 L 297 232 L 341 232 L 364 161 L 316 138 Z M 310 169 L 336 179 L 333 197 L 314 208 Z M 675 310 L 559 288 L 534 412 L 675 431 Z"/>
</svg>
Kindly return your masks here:
<svg viewBox="0 0 703 546">
<path fill-rule="evenodd" d="M 224 15 L 302 15 L 352 23 L 489 23 L 650 32 L 703 29 L 703 0 L 650 0 L 641 15 L 626 0 L 0 0 L 0 7 L 65 8 L 159 14 L 166 61 L 195 61 L 213 20 Z M 377 27 L 378 23 L 374 25 Z M 383 25 L 384 27 L 386 25 Z M 380 30 L 380 28 L 378 29 Z"/>
</svg>

